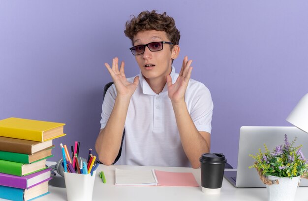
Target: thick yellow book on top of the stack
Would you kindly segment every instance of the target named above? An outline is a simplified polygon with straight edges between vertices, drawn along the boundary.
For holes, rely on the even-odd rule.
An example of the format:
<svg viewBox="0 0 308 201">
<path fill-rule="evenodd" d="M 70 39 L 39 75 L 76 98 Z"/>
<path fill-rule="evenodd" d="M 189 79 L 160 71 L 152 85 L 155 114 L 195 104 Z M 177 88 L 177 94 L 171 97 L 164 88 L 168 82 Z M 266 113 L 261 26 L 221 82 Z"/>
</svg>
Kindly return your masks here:
<svg viewBox="0 0 308 201">
<path fill-rule="evenodd" d="M 0 136 L 45 142 L 62 137 L 63 123 L 10 117 L 0 120 Z"/>
</svg>

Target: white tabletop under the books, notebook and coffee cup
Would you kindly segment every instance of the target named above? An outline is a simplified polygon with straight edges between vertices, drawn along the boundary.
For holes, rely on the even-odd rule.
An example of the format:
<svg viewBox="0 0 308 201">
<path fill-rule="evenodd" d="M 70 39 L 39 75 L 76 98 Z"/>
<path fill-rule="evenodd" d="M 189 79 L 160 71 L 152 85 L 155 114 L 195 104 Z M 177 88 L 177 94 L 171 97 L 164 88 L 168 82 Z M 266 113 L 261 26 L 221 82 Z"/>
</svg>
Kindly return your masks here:
<svg viewBox="0 0 308 201">
<path fill-rule="evenodd" d="M 156 169 L 170 172 L 191 172 L 200 187 L 164 186 L 116 186 L 115 168 L 119 169 Z M 104 171 L 106 183 L 99 177 Z M 232 169 L 230 169 L 232 171 Z M 49 186 L 50 194 L 35 201 L 66 201 L 65 188 Z M 308 187 L 299 187 L 296 201 L 308 201 Z M 3 199 L 0 199 L 1 201 Z M 124 165 L 99 165 L 93 189 L 93 201 L 267 201 L 266 188 L 236 188 L 225 178 L 219 195 L 206 195 L 201 191 L 200 168 L 149 167 Z M 3 200 L 4 201 L 4 200 Z"/>
</svg>

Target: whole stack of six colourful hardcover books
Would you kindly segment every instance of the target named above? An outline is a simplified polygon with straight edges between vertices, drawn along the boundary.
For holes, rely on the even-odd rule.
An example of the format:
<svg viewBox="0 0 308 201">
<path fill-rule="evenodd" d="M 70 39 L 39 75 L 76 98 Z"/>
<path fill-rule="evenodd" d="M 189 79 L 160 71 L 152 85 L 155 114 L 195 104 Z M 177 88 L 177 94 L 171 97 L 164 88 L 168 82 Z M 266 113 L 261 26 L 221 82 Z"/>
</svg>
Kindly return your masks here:
<svg viewBox="0 0 308 201">
<path fill-rule="evenodd" d="M 62 123 L 20 118 L 0 120 L 0 198 L 29 201 L 47 195 L 52 139 L 62 137 Z"/>
</svg>

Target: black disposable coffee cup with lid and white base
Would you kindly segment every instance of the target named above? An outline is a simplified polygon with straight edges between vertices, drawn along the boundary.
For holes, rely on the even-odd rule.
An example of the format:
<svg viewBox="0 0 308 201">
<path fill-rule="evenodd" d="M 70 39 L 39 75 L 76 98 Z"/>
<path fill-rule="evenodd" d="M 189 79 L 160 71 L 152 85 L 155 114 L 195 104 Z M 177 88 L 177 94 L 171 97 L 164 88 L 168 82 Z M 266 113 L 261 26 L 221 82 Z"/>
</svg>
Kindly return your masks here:
<svg viewBox="0 0 308 201">
<path fill-rule="evenodd" d="M 219 194 L 227 159 L 222 153 L 204 153 L 200 157 L 202 192 Z"/>
</svg>

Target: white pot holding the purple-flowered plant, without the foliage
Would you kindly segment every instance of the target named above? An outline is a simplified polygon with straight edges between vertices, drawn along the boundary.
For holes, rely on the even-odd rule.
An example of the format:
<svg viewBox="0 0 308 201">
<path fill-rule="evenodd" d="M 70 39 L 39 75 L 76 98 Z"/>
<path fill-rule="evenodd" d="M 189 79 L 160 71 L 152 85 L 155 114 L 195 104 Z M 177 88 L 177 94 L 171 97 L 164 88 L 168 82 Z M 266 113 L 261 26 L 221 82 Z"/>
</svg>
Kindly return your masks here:
<svg viewBox="0 0 308 201">
<path fill-rule="evenodd" d="M 266 185 L 268 201 L 294 201 L 301 176 L 292 178 L 267 176 L 267 178 L 279 181 L 279 184 Z"/>
</svg>

